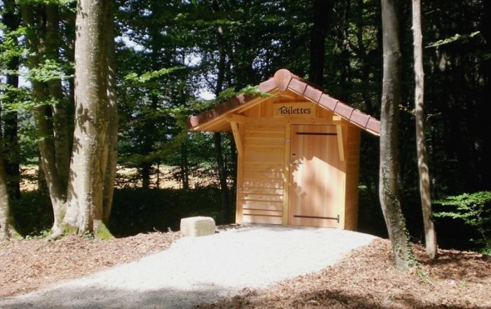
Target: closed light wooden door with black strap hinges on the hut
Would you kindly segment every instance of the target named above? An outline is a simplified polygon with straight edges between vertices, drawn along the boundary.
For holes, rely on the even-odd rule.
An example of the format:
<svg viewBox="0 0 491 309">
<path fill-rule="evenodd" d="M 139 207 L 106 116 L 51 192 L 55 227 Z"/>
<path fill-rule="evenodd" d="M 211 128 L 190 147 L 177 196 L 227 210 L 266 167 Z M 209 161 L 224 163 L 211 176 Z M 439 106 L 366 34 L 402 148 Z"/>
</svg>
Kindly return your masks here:
<svg viewBox="0 0 491 309">
<path fill-rule="evenodd" d="M 288 224 L 337 227 L 335 125 L 292 125 Z"/>
</svg>

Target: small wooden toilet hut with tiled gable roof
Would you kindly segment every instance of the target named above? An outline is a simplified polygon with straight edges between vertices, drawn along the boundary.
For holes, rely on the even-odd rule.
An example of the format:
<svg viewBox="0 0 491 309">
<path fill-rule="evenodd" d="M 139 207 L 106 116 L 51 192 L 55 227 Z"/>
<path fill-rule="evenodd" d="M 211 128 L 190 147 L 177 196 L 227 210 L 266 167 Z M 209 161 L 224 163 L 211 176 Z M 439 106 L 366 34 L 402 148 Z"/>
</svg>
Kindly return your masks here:
<svg viewBox="0 0 491 309">
<path fill-rule="evenodd" d="M 232 132 L 238 152 L 236 223 L 355 230 L 360 132 L 380 123 L 281 69 L 189 118 L 196 131 Z"/>
</svg>

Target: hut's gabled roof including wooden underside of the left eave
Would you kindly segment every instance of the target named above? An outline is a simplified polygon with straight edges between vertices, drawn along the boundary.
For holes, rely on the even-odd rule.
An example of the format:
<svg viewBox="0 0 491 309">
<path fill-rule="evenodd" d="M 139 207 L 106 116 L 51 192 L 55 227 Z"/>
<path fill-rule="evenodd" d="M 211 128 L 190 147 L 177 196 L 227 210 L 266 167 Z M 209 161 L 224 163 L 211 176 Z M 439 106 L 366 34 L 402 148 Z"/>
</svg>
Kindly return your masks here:
<svg viewBox="0 0 491 309">
<path fill-rule="evenodd" d="M 372 135 L 380 135 L 380 121 L 377 118 L 373 118 L 358 109 L 350 107 L 348 104 L 340 102 L 338 99 L 330 97 L 287 69 L 276 71 L 274 77 L 260 83 L 258 88 L 261 92 L 267 92 L 271 95 L 288 91 L 295 92 L 297 95 L 319 104 L 319 106 L 332 111 Z M 232 114 L 241 113 L 266 99 L 267 97 L 237 95 L 218 104 L 213 109 L 189 117 L 189 128 L 195 131 L 229 132 L 231 128 L 227 119 Z"/>
</svg>

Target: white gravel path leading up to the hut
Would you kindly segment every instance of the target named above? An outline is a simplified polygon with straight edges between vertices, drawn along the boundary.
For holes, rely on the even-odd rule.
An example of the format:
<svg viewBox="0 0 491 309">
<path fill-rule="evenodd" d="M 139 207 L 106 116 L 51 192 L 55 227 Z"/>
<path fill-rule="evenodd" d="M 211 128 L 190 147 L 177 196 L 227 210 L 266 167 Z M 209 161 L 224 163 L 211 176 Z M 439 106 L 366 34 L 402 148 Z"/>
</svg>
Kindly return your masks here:
<svg viewBox="0 0 491 309">
<path fill-rule="evenodd" d="M 332 228 L 248 225 L 199 238 L 0 308 L 192 308 L 332 265 L 375 236 Z"/>
</svg>

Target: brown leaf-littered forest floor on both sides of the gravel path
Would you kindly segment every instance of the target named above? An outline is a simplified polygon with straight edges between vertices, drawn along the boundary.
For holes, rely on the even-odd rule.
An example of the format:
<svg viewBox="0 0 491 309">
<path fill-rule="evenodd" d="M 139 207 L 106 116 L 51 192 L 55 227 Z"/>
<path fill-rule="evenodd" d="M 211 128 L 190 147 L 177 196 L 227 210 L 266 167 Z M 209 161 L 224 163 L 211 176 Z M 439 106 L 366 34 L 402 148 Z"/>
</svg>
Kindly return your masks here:
<svg viewBox="0 0 491 309">
<path fill-rule="evenodd" d="M 180 233 L 94 240 L 13 240 L 0 245 L 0 297 L 25 294 L 167 249 Z M 267 289 L 200 308 L 491 308 L 491 260 L 475 252 L 440 250 L 429 261 L 414 246 L 419 268 L 396 270 L 388 240 L 375 240 L 342 261 Z"/>
</svg>

